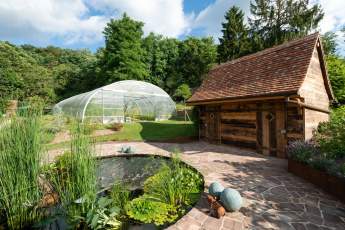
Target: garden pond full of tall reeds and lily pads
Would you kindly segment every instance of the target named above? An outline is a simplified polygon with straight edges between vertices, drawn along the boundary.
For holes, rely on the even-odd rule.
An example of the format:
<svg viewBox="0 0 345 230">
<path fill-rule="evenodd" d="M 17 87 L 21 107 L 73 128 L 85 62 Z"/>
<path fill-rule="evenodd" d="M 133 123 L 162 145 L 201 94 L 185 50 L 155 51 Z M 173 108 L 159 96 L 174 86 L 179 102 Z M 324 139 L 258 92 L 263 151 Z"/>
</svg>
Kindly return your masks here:
<svg viewBox="0 0 345 230">
<path fill-rule="evenodd" d="M 178 154 L 171 159 L 145 157 L 151 168 L 143 167 L 144 161 L 133 163 L 134 156 L 119 157 L 128 161 L 120 168 L 126 170 L 111 171 L 114 162 L 121 166 L 123 160 L 96 158 L 87 127 L 79 123 L 71 127 L 68 151 L 49 164 L 41 161 L 40 112 L 14 117 L 2 128 L 0 228 L 128 229 L 142 224 L 162 228 L 198 201 L 203 178 Z M 141 171 L 128 165 L 140 165 L 136 168 Z M 102 181 L 104 171 L 114 177 Z M 135 184 L 135 176 L 140 183 Z M 105 181 L 108 184 L 102 184 Z"/>
</svg>

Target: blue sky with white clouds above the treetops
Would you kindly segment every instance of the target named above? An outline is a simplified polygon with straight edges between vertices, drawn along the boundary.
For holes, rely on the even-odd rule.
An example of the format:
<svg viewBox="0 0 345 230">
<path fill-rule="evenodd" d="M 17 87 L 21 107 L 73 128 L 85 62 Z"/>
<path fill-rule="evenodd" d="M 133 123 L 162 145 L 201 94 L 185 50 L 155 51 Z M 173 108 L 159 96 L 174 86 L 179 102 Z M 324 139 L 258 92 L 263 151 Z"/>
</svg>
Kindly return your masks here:
<svg viewBox="0 0 345 230">
<path fill-rule="evenodd" d="M 345 25 L 344 0 L 320 3 L 325 18 L 319 30 L 335 31 Z M 102 30 L 110 18 L 123 12 L 145 23 L 144 32 L 183 39 L 220 36 L 224 13 L 232 5 L 249 16 L 249 0 L 1 0 L 0 40 L 36 46 L 88 48 L 104 46 Z M 344 38 L 340 52 L 345 54 Z"/>
</svg>

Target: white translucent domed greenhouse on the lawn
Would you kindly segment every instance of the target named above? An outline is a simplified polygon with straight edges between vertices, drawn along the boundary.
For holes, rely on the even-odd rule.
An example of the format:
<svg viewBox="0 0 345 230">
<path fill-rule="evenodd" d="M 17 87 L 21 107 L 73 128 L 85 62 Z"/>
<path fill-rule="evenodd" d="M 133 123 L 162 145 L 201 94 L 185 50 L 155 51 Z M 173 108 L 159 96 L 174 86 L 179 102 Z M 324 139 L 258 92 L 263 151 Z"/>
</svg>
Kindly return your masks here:
<svg viewBox="0 0 345 230">
<path fill-rule="evenodd" d="M 81 121 L 123 123 L 132 119 L 167 120 L 175 108 L 174 101 L 158 86 L 125 80 L 67 98 L 54 106 L 53 113 Z"/>
</svg>

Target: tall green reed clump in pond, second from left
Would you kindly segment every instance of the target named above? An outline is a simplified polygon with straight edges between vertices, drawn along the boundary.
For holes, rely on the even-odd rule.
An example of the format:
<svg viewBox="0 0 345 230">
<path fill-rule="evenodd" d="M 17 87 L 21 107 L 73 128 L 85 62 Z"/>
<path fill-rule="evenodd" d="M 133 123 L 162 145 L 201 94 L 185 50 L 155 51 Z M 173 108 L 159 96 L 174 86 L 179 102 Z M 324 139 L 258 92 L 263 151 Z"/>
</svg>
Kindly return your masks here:
<svg viewBox="0 0 345 230">
<path fill-rule="evenodd" d="M 78 224 L 75 217 L 87 213 L 96 199 L 94 146 L 83 129 L 82 124 L 76 124 L 72 130 L 70 151 L 57 159 L 57 170 L 50 176 L 72 224 Z"/>
</svg>

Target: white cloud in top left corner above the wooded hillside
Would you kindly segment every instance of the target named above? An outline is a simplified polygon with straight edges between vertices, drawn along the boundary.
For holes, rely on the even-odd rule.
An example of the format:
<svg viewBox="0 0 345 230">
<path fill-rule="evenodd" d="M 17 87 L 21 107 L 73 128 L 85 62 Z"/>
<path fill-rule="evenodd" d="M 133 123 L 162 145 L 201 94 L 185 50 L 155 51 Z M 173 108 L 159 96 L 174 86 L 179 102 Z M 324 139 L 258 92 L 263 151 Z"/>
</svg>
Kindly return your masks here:
<svg viewBox="0 0 345 230">
<path fill-rule="evenodd" d="M 82 0 L 8 0 L 0 2 L 0 39 L 47 43 L 56 37 L 63 43 L 102 40 L 107 21 L 87 16 Z"/>
</svg>

